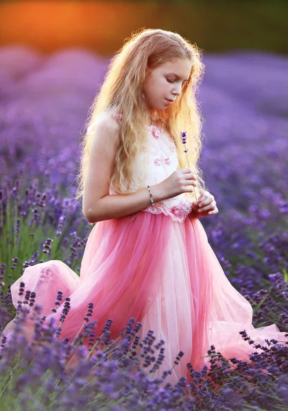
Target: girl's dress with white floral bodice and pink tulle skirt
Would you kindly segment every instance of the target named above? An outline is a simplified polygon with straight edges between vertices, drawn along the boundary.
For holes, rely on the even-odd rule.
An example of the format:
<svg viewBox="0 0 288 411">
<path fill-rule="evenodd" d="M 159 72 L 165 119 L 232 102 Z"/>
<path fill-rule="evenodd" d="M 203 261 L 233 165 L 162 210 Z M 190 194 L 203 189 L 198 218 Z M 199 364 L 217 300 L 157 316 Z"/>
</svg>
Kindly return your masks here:
<svg viewBox="0 0 288 411">
<path fill-rule="evenodd" d="M 178 168 L 176 146 L 164 130 L 147 126 L 147 142 L 135 163 L 134 188 L 158 184 Z M 111 186 L 110 194 L 117 195 Z M 29 266 L 11 286 L 14 306 L 20 282 L 25 282 L 25 289 L 36 292 L 47 323 L 51 316 L 58 320 L 64 302 L 54 314 L 51 308 L 61 290 L 62 301 L 70 297 L 71 310 L 61 325 L 60 338 L 70 336 L 71 342 L 90 302 L 92 319 L 97 319 L 95 336 L 101 335 L 110 318 L 114 320 L 111 338 L 117 338 L 134 317 L 142 323 L 141 339 L 152 329 L 155 343 L 165 341 L 165 359 L 154 377 L 171 369 L 179 351 L 184 351 L 166 379 L 172 384 L 182 375 L 188 377 L 188 362 L 194 369 L 200 370 L 203 364 L 209 368 L 209 357 L 203 357 L 212 344 L 227 359 L 249 361 L 250 353 L 261 352 L 241 338 L 243 329 L 263 345 L 265 338 L 287 341 L 275 324 L 254 328 L 252 306 L 228 281 L 204 227 L 190 214 L 191 201 L 182 194 L 130 216 L 96 223 L 86 243 L 80 276 L 59 260 Z M 13 325 L 11 321 L 3 330 L 8 341 Z M 32 338 L 32 323 L 27 323 L 26 331 Z"/>
</svg>

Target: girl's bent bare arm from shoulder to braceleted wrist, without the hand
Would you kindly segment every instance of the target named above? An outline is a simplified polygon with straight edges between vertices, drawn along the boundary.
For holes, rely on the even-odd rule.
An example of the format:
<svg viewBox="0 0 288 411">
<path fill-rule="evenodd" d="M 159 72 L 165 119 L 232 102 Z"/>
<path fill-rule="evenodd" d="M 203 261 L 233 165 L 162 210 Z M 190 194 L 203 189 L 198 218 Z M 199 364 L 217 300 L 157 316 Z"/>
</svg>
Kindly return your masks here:
<svg viewBox="0 0 288 411">
<path fill-rule="evenodd" d="M 132 194 L 109 195 L 109 176 L 115 162 L 119 124 L 110 114 L 95 125 L 84 182 L 83 212 L 89 223 L 128 216 L 151 205 L 147 187 Z M 163 186 L 150 186 L 154 203 L 166 199 Z"/>
</svg>

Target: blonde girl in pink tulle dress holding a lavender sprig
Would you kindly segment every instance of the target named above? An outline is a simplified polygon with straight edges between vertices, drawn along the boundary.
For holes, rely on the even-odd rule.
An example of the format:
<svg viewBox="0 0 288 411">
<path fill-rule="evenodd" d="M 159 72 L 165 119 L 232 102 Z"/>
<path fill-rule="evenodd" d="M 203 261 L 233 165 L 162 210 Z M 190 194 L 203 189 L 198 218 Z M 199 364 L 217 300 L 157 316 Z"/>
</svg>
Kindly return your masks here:
<svg viewBox="0 0 288 411">
<path fill-rule="evenodd" d="M 93 103 L 82 144 L 76 197 L 83 198 L 88 223 L 97 224 L 80 277 L 50 260 L 27 267 L 11 286 L 15 304 L 20 282 L 36 292 L 47 323 L 60 319 L 64 303 L 51 314 L 57 291 L 70 297 L 61 339 L 73 340 L 91 302 L 95 336 L 110 318 L 117 338 L 134 317 L 142 338 L 151 329 L 156 342 L 165 341 L 155 377 L 184 351 L 171 383 L 189 376 L 188 362 L 198 370 L 209 366 L 204 356 L 212 344 L 226 358 L 248 360 L 255 349 L 241 338 L 244 328 L 256 343 L 285 340 L 276 325 L 254 329 L 252 306 L 228 281 L 199 220 L 218 213 L 197 167 L 196 90 L 203 73 L 200 49 L 179 34 L 143 29 L 125 42 Z M 8 337 L 12 322 L 3 331 Z M 27 335 L 32 331 L 28 323 Z"/>
</svg>

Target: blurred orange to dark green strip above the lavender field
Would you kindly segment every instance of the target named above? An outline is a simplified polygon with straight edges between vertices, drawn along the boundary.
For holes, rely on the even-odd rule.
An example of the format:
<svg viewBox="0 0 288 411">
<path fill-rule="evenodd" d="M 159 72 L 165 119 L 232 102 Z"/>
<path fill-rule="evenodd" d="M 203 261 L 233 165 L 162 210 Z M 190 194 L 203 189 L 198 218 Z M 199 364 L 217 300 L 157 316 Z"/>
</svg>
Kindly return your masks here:
<svg viewBox="0 0 288 411">
<path fill-rule="evenodd" d="M 0 47 L 51 53 L 80 47 L 108 56 L 141 27 L 178 32 L 213 53 L 235 49 L 288 53 L 288 2 L 1 1 Z"/>
</svg>

